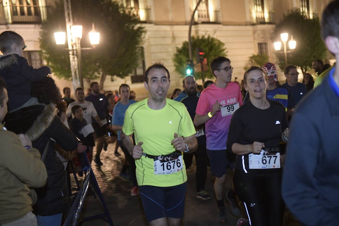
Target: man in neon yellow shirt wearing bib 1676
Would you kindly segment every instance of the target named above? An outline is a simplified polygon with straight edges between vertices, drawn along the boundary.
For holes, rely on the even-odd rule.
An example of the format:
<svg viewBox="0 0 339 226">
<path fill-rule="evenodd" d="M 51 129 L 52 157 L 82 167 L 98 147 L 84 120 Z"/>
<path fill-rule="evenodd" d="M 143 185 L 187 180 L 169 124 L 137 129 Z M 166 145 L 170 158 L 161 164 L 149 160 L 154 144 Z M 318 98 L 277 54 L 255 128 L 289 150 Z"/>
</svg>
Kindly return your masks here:
<svg viewBox="0 0 339 226">
<path fill-rule="evenodd" d="M 136 159 L 149 225 L 181 225 L 187 186 L 182 152 L 197 149 L 196 131 L 186 107 L 166 98 L 171 81 L 164 65 L 148 67 L 144 80 L 149 98 L 128 107 L 121 140 Z M 133 145 L 133 133 L 137 145 Z"/>
</svg>

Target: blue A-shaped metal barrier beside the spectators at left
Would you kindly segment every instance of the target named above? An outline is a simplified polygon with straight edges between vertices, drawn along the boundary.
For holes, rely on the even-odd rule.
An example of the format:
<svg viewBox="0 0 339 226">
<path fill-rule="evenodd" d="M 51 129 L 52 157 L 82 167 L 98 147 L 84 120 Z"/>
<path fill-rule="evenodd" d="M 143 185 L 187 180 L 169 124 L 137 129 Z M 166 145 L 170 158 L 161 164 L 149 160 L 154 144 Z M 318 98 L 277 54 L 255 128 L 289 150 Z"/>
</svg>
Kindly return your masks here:
<svg viewBox="0 0 339 226">
<path fill-rule="evenodd" d="M 80 153 L 81 158 L 80 161 L 82 161 L 83 165 L 85 165 L 84 171 L 86 171 L 85 179 L 81 185 L 80 191 L 78 192 L 77 196 L 73 200 L 73 204 L 69 210 L 69 213 L 67 215 L 67 218 L 65 220 L 65 223 L 63 226 L 75 226 L 78 224 L 80 213 L 82 210 L 82 207 L 84 205 L 84 200 L 86 198 L 86 194 L 88 191 L 88 187 L 90 187 L 93 191 L 94 196 L 98 200 L 99 204 L 101 205 L 102 209 L 104 210 L 104 213 L 94 215 L 91 217 L 86 217 L 81 219 L 80 224 L 88 220 L 93 220 L 96 218 L 102 218 L 103 220 L 107 221 L 109 225 L 113 226 L 113 222 L 111 219 L 111 215 L 109 215 L 108 208 L 106 206 L 106 203 L 104 201 L 104 198 L 102 197 L 101 190 L 99 188 L 97 179 L 95 178 L 95 175 L 93 173 L 91 164 L 88 161 L 87 155 L 85 152 Z"/>
</svg>

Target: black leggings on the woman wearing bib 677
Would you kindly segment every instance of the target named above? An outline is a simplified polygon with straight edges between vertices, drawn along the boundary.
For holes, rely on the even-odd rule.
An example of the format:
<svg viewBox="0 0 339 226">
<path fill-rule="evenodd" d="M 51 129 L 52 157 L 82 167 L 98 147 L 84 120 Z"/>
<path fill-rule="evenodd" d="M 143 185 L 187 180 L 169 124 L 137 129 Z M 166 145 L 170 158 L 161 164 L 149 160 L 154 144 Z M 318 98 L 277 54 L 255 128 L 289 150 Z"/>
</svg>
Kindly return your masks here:
<svg viewBox="0 0 339 226">
<path fill-rule="evenodd" d="M 234 187 L 250 225 L 283 225 L 285 205 L 281 198 L 281 175 L 282 169 L 248 173 L 235 170 Z"/>
</svg>

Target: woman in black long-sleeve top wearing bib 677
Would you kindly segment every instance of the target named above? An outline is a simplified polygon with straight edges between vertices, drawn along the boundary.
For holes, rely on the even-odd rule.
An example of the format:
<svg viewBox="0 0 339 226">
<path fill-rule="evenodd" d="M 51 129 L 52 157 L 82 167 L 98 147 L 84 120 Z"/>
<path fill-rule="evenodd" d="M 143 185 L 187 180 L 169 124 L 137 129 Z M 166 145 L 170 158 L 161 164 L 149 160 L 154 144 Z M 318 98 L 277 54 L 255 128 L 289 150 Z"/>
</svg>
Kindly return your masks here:
<svg viewBox="0 0 339 226">
<path fill-rule="evenodd" d="M 237 154 L 233 182 L 248 220 L 242 225 L 283 225 L 279 142 L 288 140 L 285 107 L 266 99 L 267 76 L 260 67 L 245 72 L 250 94 L 234 114 L 227 147 Z"/>
</svg>

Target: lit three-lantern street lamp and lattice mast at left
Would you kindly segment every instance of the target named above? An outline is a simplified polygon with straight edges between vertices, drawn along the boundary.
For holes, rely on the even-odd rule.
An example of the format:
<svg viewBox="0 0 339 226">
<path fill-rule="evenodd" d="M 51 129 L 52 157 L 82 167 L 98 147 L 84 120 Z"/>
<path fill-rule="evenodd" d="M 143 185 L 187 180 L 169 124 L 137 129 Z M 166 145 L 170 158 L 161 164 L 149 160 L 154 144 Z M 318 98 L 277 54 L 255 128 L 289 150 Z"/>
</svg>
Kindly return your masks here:
<svg viewBox="0 0 339 226">
<path fill-rule="evenodd" d="M 66 34 L 69 52 L 69 61 L 71 63 L 71 73 L 73 81 L 73 89 L 83 86 L 82 79 L 82 65 L 81 65 L 81 45 L 82 38 L 82 26 L 73 25 L 72 10 L 70 0 L 64 0 L 65 9 L 65 22 L 66 22 Z M 100 34 L 95 32 L 94 23 L 92 24 L 92 30 L 88 33 L 89 40 L 92 45 L 99 44 Z M 54 33 L 55 42 L 57 45 L 65 44 L 65 32 Z"/>
</svg>

